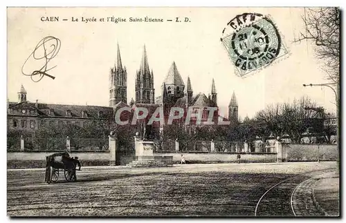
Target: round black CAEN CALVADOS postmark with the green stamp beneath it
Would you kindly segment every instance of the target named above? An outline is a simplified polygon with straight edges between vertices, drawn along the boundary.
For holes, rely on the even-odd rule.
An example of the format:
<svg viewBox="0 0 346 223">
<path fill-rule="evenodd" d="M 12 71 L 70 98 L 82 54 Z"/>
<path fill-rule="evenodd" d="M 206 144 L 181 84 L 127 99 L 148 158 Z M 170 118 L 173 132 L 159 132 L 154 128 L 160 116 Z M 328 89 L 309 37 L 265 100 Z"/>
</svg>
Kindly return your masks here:
<svg viewBox="0 0 346 223">
<path fill-rule="evenodd" d="M 280 56 L 282 40 L 268 17 L 244 13 L 237 15 L 227 25 L 222 32 L 221 41 L 241 76 L 268 66 Z"/>
</svg>

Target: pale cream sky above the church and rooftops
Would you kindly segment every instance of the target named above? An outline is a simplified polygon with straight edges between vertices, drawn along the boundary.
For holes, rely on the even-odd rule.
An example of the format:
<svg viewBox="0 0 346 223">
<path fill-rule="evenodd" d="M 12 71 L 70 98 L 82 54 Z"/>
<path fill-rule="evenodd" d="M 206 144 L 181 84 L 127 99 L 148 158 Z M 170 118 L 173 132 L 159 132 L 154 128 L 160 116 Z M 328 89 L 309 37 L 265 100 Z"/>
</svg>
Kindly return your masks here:
<svg viewBox="0 0 346 223">
<path fill-rule="evenodd" d="M 238 77 L 219 39 L 228 21 L 244 12 L 269 14 L 289 55 L 267 68 Z M 313 44 L 293 43 L 304 32 L 302 15 L 304 8 L 8 8 L 7 97 L 17 101 L 23 84 L 28 101 L 108 106 L 109 70 L 116 61 L 119 43 L 122 65 L 127 68 L 129 102 L 134 97 L 136 70 L 145 44 L 156 97 L 161 95 L 163 79 L 175 61 L 185 85 L 190 77 L 194 95 L 208 95 L 212 78 L 215 79 L 218 104 L 225 114 L 233 91 L 243 119 L 253 117 L 268 104 L 303 96 L 311 97 L 327 112 L 335 112 L 335 97 L 329 88 L 302 86 L 328 83 Z M 129 17 L 146 16 L 173 21 L 129 22 Z M 42 17 L 60 17 L 60 21 L 41 21 Z M 121 17 L 127 22 L 73 22 L 71 17 Z M 176 23 L 176 17 L 189 17 L 190 22 Z M 60 51 L 48 64 L 56 66 L 48 72 L 55 79 L 44 77 L 36 83 L 22 75 L 21 67 L 37 43 L 47 36 L 61 41 Z M 35 63 L 26 65 L 30 68 Z"/>
</svg>

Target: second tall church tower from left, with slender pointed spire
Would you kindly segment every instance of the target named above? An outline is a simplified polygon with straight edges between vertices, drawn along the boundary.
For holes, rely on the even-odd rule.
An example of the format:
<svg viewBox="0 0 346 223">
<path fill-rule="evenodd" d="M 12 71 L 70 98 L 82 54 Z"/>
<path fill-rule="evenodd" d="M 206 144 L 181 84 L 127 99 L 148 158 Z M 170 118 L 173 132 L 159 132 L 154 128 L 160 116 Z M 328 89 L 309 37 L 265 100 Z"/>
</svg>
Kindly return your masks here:
<svg viewBox="0 0 346 223">
<path fill-rule="evenodd" d="M 147 50 L 144 46 L 143 57 L 140 63 L 140 68 L 136 72 L 136 103 L 154 104 L 155 89 L 154 89 L 154 73 L 150 72 L 147 59 Z"/>
</svg>

